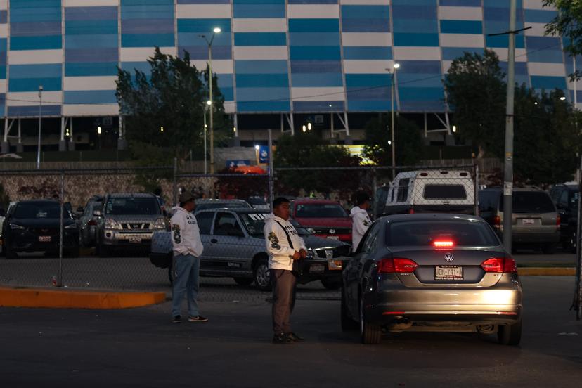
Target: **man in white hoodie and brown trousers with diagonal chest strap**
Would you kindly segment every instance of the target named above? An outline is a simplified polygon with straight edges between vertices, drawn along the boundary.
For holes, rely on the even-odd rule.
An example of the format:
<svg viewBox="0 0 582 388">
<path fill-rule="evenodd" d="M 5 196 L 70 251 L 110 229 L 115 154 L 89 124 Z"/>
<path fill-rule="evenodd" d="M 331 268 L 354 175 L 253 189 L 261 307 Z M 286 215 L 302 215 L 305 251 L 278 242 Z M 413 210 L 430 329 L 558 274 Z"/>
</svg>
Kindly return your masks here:
<svg viewBox="0 0 582 388">
<path fill-rule="evenodd" d="M 269 252 L 269 276 L 273 284 L 273 344 L 303 342 L 291 331 L 289 323 L 295 306 L 295 275 L 293 261 L 305 259 L 307 249 L 295 227 L 289 222 L 287 198 L 273 200 L 273 214 L 266 219 L 264 233 Z"/>
</svg>

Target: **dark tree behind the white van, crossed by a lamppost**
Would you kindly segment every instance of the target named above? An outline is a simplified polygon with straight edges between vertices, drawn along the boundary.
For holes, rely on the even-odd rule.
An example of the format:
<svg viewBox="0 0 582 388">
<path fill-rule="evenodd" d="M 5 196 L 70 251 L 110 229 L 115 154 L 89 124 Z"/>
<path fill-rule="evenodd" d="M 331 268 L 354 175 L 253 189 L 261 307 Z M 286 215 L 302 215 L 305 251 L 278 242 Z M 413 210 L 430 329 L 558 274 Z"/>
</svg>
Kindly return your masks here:
<svg viewBox="0 0 582 388">
<path fill-rule="evenodd" d="M 391 138 L 389 131 L 391 124 L 390 115 L 381 115 L 371 119 L 364 127 L 363 157 L 378 166 L 392 165 L 392 145 L 388 144 Z M 410 166 L 417 163 L 424 148 L 420 128 L 415 122 L 400 115 L 394 119 L 394 126 L 396 127 L 394 133 L 396 166 Z"/>
</svg>

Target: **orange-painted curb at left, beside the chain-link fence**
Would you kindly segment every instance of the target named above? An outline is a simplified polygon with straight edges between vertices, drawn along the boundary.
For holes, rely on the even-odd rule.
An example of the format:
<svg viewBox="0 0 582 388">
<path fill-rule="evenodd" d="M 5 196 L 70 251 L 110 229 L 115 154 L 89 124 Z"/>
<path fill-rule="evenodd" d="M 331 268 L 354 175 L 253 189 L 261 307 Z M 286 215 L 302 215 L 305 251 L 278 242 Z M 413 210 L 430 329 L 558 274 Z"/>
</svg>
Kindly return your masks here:
<svg viewBox="0 0 582 388">
<path fill-rule="evenodd" d="M 165 292 L 89 292 L 0 288 L 0 306 L 52 309 L 130 309 L 166 300 Z"/>
</svg>

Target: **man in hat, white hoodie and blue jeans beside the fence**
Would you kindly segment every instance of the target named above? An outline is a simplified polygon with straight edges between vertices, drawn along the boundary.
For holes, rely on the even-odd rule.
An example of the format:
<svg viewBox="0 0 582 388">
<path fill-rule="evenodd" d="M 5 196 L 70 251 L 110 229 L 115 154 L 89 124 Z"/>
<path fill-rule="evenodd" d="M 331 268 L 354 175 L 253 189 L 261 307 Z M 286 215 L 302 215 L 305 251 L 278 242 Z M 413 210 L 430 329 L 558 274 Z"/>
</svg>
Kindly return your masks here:
<svg viewBox="0 0 582 388">
<path fill-rule="evenodd" d="M 207 318 L 198 313 L 198 289 L 200 287 L 200 255 L 202 241 L 200 229 L 192 214 L 196 205 L 194 195 L 182 190 L 180 206 L 170 220 L 172 224 L 172 246 L 174 250 L 174 292 L 172 295 L 172 323 L 181 323 L 181 304 L 184 294 L 188 297 L 188 322 L 206 322 Z"/>
</svg>

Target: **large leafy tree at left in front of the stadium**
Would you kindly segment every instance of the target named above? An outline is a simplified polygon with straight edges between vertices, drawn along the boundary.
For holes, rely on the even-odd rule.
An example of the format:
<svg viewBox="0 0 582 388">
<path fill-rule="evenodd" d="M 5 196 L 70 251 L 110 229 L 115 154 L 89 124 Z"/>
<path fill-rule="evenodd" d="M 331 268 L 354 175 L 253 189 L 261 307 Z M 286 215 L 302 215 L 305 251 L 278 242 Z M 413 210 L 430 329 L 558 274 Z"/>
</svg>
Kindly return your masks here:
<svg viewBox="0 0 582 388">
<path fill-rule="evenodd" d="M 150 74 L 135 70 L 131 75 L 127 70 L 117 70 L 115 96 L 125 120 L 125 136 L 134 143 L 134 150 L 144 145 L 167 148 L 171 158 L 183 160 L 191 149 L 202 147 L 208 72 L 192 65 L 187 51 L 179 58 L 156 47 L 148 63 Z M 216 80 L 213 77 L 214 129 L 220 139 L 220 130 L 226 129 L 228 119 Z"/>
</svg>

